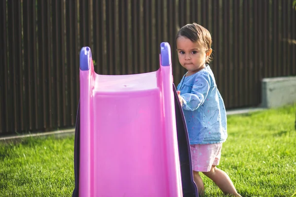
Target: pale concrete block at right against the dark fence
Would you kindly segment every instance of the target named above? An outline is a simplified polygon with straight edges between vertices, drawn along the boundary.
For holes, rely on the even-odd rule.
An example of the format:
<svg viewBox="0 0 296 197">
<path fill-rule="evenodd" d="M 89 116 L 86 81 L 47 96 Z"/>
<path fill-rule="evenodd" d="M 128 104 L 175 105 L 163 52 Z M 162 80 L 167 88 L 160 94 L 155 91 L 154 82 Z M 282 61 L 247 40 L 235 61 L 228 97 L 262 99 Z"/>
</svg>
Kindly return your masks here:
<svg viewBox="0 0 296 197">
<path fill-rule="evenodd" d="M 296 76 L 262 79 L 261 107 L 273 108 L 296 102 Z"/>
</svg>

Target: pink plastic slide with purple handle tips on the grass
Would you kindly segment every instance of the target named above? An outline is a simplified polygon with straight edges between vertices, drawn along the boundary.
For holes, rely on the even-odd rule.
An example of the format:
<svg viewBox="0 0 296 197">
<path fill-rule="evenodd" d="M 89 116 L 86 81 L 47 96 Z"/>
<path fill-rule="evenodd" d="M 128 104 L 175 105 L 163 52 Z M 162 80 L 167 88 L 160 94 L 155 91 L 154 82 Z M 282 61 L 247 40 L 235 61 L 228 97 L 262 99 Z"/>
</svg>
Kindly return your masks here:
<svg viewBox="0 0 296 197">
<path fill-rule="evenodd" d="M 160 68 L 132 75 L 95 73 L 90 48 L 81 49 L 73 197 L 197 196 L 187 136 L 191 190 L 185 195 L 182 187 L 171 49 L 160 47 Z"/>
</svg>

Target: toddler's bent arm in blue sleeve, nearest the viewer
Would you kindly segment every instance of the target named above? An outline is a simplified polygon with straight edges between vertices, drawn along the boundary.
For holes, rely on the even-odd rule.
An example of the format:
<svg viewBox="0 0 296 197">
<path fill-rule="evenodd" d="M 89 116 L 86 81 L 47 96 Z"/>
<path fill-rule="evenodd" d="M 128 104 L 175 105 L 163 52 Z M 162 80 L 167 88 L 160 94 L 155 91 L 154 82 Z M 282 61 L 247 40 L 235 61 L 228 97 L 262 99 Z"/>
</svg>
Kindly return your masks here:
<svg viewBox="0 0 296 197">
<path fill-rule="evenodd" d="M 183 99 L 182 108 L 189 111 L 196 110 L 201 104 L 204 103 L 206 97 L 208 96 L 210 86 L 209 76 L 204 74 L 198 75 L 192 86 L 191 93 L 185 93 L 181 95 Z"/>
</svg>

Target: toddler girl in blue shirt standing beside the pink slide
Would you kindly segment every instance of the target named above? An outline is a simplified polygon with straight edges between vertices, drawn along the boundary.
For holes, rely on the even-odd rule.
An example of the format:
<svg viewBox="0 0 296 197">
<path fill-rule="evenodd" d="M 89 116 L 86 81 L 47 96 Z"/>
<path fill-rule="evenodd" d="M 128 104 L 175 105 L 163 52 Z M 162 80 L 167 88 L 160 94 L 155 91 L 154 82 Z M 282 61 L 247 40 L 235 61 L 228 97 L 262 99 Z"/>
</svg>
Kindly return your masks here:
<svg viewBox="0 0 296 197">
<path fill-rule="evenodd" d="M 193 23 L 182 27 L 176 36 L 180 64 L 187 69 L 177 87 L 191 149 L 194 182 L 204 195 L 202 172 L 225 194 L 240 197 L 229 176 L 217 168 L 222 142 L 227 138 L 226 111 L 209 65 L 212 38 L 204 27 Z"/>
</svg>

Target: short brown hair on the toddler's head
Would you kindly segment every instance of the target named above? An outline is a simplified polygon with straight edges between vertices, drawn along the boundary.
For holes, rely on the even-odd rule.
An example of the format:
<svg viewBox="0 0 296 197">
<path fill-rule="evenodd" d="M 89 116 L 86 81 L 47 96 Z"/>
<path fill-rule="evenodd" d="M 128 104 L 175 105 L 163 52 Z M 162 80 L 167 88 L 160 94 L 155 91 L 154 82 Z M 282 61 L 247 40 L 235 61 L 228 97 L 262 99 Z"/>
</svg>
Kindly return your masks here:
<svg viewBox="0 0 296 197">
<path fill-rule="evenodd" d="M 199 42 L 207 49 L 211 48 L 212 45 L 212 36 L 211 33 L 201 25 L 198 25 L 196 23 L 187 24 L 183 26 L 177 33 L 176 36 L 176 42 L 178 37 L 185 36 L 191 42 Z M 206 63 L 210 63 L 212 60 L 212 57 L 207 57 Z"/>
</svg>

